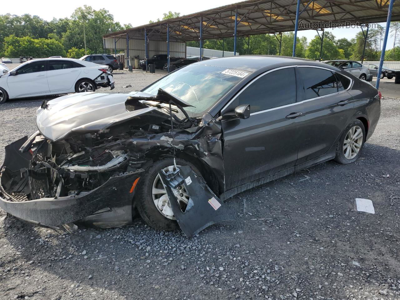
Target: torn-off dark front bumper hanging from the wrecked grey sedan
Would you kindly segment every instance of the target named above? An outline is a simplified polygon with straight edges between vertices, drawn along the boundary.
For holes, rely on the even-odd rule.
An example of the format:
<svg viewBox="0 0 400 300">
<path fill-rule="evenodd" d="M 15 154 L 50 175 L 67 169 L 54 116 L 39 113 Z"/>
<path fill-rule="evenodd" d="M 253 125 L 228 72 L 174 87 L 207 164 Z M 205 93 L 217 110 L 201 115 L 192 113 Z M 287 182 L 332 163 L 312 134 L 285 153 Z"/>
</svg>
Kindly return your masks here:
<svg viewBox="0 0 400 300">
<path fill-rule="evenodd" d="M 6 159 L 0 173 L 1 180 L 10 180 L 10 176 L 4 176 L 5 168 L 12 170 L 10 168 L 15 166 L 12 173 L 19 174 L 16 172 L 18 171 L 16 163 L 22 160 L 22 155 L 18 149 L 25 141 L 26 138 L 6 146 Z M 30 201 L 21 201 L 21 197 L 16 197 L 21 194 L 6 192 L 4 185 L 7 182 L 3 184 L 0 180 L 0 208 L 21 220 L 48 227 L 60 227 L 76 222 L 100 228 L 128 225 L 132 223 L 134 196 L 134 190 L 131 190 L 132 183 L 142 172 L 144 170 L 140 169 L 136 172 L 114 175 L 98 188 L 79 195 Z"/>
</svg>

